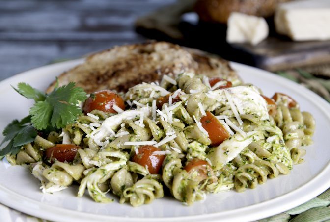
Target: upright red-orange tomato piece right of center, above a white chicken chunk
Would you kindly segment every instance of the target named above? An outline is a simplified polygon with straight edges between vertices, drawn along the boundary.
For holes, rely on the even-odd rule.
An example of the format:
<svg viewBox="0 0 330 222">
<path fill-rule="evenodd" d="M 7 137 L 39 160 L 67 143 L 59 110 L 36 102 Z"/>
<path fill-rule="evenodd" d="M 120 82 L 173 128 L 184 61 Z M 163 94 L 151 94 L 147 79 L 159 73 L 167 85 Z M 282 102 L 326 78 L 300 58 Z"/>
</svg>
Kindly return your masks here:
<svg viewBox="0 0 330 222">
<path fill-rule="evenodd" d="M 219 146 L 230 136 L 219 120 L 209 111 L 206 111 L 206 116 L 202 116 L 200 123 L 208 132 L 213 147 Z"/>
</svg>

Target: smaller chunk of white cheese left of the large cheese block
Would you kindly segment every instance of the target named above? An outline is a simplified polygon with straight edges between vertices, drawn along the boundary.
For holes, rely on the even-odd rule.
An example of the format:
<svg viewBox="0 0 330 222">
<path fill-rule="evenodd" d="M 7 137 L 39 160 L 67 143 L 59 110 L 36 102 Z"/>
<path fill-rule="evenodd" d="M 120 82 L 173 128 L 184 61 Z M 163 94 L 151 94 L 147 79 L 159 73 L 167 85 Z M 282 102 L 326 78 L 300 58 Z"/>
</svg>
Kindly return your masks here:
<svg viewBox="0 0 330 222">
<path fill-rule="evenodd" d="M 233 12 L 227 23 L 228 43 L 249 43 L 256 45 L 267 38 L 269 28 L 262 17 Z"/>
</svg>

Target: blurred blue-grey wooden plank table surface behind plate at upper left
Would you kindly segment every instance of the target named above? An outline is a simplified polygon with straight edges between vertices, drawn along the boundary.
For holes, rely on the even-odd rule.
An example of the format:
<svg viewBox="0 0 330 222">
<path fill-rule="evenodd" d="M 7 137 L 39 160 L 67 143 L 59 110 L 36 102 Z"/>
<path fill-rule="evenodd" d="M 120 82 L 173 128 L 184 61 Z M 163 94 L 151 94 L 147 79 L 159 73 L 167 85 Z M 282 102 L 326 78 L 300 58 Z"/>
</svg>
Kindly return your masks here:
<svg viewBox="0 0 330 222">
<path fill-rule="evenodd" d="M 0 80 L 58 59 L 143 42 L 134 22 L 175 0 L 1 0 Z"/>
</svg>

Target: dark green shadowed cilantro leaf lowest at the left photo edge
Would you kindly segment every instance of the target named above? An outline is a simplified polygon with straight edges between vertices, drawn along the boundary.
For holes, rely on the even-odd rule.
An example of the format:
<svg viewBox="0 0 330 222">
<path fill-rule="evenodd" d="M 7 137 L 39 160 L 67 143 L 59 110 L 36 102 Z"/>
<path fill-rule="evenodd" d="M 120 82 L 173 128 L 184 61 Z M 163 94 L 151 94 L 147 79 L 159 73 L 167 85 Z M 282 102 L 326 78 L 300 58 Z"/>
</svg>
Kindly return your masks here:
<svg viewBox="0 0 330 222">
<path fill-rule="evenodd" d="M 13 120 L 6 126 L 3 130 L 5 138 L 1 142 L 0 148 L 6 141 L 9 141 L 9 143 L 3 149 L 0 149 L 0 159 L 7 154 L 17 154 L 23 145 L 34 141 L 34 138 L 37 136 L 37 131 L 31 125 L 30 119 L 31 116 L 27 116 L 20 122 L 18 120 Z"/>
</svg>

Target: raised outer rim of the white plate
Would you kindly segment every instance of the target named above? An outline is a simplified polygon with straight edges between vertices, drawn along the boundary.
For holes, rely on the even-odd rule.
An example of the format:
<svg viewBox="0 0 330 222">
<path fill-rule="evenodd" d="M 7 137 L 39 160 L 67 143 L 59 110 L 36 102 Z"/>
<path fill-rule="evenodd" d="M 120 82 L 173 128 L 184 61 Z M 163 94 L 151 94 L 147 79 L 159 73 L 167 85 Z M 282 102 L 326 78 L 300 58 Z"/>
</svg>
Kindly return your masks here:
<svg viewBox="0 0 330 222">
<path fill-rule="evenodd" d="M 0 81 L 0 85 L 8 84 L 8 82 L 13 81 L 14 79 L 19 78 L 20 76 L 27 75 L 29 73 L 35 73 L 40 72 L 43 70 L 49 70 L 49 69 L 56 69 L 61 68 L 63 66 L 73 68 L 74 66 L 82 63 L 84 61 L 84 58 L 82 59 L 75 59 L 75 60 L 69 60 L 65 62 L 55 63 L 51 65 L 41 66 L 38 68 L 34 68 L 16 75 L 13 75 L 9 78 L 3 79 Z M 288 79 L 285 79 L 281 76 L 275 75 L 273 73 L 270 73 L 265 70 L 261 70 L 255 67 L 247 66 L 240 63 L 230 62 L 232 68 L 234 70 L 238 69 L 250 69 L 253 72 L 256 73 L 263 73 L 267 74 L 267 78 L 271 78 L 272 80 L 275 80 L 276 82 L 280 82 L 280 84 L 284 85 L 286 88 L 290 88 L 292 91 L 296 91 L 298 94 L 306 93 L 307 96 L 305 96 L 306 99 L 310 100 L 312 103 L 314 103 L 318 109 L 320 109 L 330 120 L 330 104 L 323 98 L 321 98 L 319 95 L 315 94 L 314 92 L 308 90 L 307 88 L 303 87 L 302 85 L 295 83 L 293 81 L 290 81 Z M 69 69 L 70 69 L 69 68 Z M 295 86 L 295 87 L 291 87 Z M 324 174 L 330 173 L 330 165 L 329 161 L 326 166 L 310 181 L 303 184 L 300 187 L 297 187 L 294 191 L 288 192 L 286 194 L 283 194 L 281 196 L 272 198 L 270 200 L 266 200 L 261 203 L 253 204 L 250 206 L 241 207 L 238 209 L 233 210 L 227 210 L 224 212 L 218 212 L 218 213 L 209 213 L 209 214 L 202 214 L 202 215 L 193 215 L 193 216 L 179 216 L 179 217 L 165 217 L 165 218 L 159 218 L 159 217 L 148 217 L 148 218 L 128 218 L 128 217 L 117 217 L 117 216 L 110 216 L 110 215 L 97 215 L 93 213 L 86 213 L 86 212 L 80 212 L 75 210 L 69 210 L 64 209 L 62 207 L 57 206 L 51 206 L 48 204 L 43 204 L 37 200 L 30 199 L 28 197 L 24 197 L 22 195 L 16 194 L 13 191 L 3 187 L 0 184 L 0 203 L 9 206 L 13 209 L 19 210 L 21 212 L 24 212 L 26 214 L 45 218 L 47 220 L 53 220 L 53 221 L 75 221 L 77 218 L 79 218 L 80 222 L 84 221 L 102 221 L 102 220 L 112 220 L 112 221 L 121 221 L 121 222 L 144 222 L 144 221 L 202 221 L 202 220 L 209 220 L 209 221 L 219 221 L 219 218 L 221 217 L 221 220 L 225 221 L 251 221 L 251 220 L 258 220 L 261 218 L 269 217 L 271 215 L 275 215 L 277 213 L 281 213 L 285 210 L 291 209 L 292 207 L 298 206 L 302 204 L 303 202 L 308 201 L 309 199 L 316 197 L 317 195 L 321 194 L 323 191 L 329 188 L 330 186 L 330 177 L 323 176 Z M 328 178 L 328 179 L 327 179 Z M 322 183 L 318 183 L 320 181 Z M 316 189 L 315 189 L 316 187 Z M 309 192 L 304 195 L 301 194 L 304 190 L 308 190 Z M 295 198 L 290 198 L 294 196 Z M 8 198 L 9 197 L 9 198 Z M 24 199 L 27 202 L 33 202 L 38 207 L 32 207 L 27 203 L 27 205 L 17 204 L 18 202 L 15 200 L 16 198 Z M 14 200 L 12 200 L 14 199 Z M 286 201 L 286 200 L 290 201 Z M 277 203 L 277 204 L 276 204 Z M 40 206 L 41 205 L 41 206 Z M 271 207 L 268 207 L 271 206 Z M 262 208 L 262 210 L 258 210 Z M 46 208 L 46 209 L 45 209 Z M 47 210 L 43 211 L 41 209 Z M 235 215 L 236 217 L 233 218 L 232 216 Z"/>
</svg>

